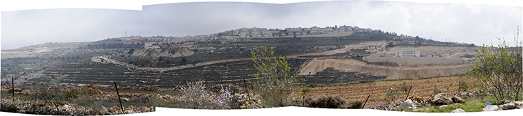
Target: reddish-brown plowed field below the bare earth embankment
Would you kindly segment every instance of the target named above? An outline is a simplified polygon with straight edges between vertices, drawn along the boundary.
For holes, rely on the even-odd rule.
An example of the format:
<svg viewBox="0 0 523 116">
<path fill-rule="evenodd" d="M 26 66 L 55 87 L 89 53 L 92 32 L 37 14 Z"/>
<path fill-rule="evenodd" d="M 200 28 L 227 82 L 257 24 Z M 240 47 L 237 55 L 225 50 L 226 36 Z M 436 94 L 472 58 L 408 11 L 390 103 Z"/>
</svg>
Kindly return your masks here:
<svg viewBox="0 0 523 116">
<path fill-rule="evenodd" d="M 467 77 L 441 77 L 441 78 L 425 78 L 425 79 L 413 79 L 413 80 L 396 80 L 396 81 L 377 81 L 372 83 L 347 83 L 335 85 L 333 87 L 317 87 L 309 88 L 308 96 L 317 96 L 321 94 L 335 94 L 341 95 L 348 101 L 364 100 L 370 94 L 370 98 L 367 104 L 379 103 L 381 101 L 388 101 L 386 97 L 386 90 L 388 89 L 399 89 L 400 84 L 406 82 L 407 85 L 412 85 L 409 97 L 431 97 L 434 96 L 434 88 L 441 90 L 441 92 L 458 92 L 458 86 L 460 78 L 464 79 L 469 85 L 468 91 L 477 90 L 478 87 L 474 86 L 471 78 Z M 393 85 L 397 85 L 394 88 Z M 463 90 L 462 90 L 463 91 Z M 300 92 L 300 90 L 296 90 Z M 407 97 L 406 92 L 400 91 L 400 95 L 395 97 L 393 100 L 405 99 Z"/>
</svg>

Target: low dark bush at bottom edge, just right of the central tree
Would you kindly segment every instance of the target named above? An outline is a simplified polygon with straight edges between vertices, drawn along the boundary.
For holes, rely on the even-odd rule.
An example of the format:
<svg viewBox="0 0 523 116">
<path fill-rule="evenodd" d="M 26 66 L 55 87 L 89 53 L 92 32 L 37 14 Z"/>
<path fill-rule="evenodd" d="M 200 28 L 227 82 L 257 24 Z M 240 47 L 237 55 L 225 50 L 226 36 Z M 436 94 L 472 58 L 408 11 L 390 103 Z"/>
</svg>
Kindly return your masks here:
<svg viewBox="0 0 523 116">
<path fill-rule="evenodd" d="M 340 96 L 331 94 L 320 95 L 317 97 L 308 97 L 305 99 L 305 106 L 313 108 L 343 108 L 346 100 Z"/>
</svg>

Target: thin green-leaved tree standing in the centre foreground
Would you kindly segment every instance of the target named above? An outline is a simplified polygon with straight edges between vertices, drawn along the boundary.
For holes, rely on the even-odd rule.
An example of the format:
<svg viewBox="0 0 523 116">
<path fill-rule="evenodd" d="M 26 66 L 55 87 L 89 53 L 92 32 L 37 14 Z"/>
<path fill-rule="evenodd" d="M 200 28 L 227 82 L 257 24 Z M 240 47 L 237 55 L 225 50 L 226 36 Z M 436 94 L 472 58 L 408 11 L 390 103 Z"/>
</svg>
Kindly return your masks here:
<svg viewBox="0 0 523 116">
<path fill-rule="evenodd" d="M 285 56 L 275 56 L 273 47 L 270 50 L 258 47 L 250 53 L 258 70 L 254 74 L 256 81 L 252 90 L 261 95 L 261 105 L 266 108 L 292 105 L 294 101 L 291 99 L 296 95 L 292 88 L 296 88 L 301 81 L 298 79 L 298 71 L 291 69 Z"/>
</svg>

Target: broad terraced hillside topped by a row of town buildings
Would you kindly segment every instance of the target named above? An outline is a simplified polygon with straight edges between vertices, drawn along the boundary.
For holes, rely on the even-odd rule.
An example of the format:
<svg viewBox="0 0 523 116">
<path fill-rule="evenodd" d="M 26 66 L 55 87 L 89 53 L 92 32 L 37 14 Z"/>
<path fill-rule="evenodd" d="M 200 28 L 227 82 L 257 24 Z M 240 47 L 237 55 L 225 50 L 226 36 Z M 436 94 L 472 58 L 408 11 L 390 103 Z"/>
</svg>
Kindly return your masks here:
<svg viewBox="0 0 523 116">
<path fill-rule="evenodd" d="M 369 62 L 365 57 L 386 56 L 398 48 L 430 51 L 430 47 L 471 48 L 473 44 L 437 42 L 356 27 L 319 28 L 321 31 L 312 31 L 314 27 L 240 28 L 183 38 L 131 36 L 97 42 L 47 43 L 2 51 L 1 77 L 2 83 L 6 83 L 6 77 L 16 76 L 15 85 L 56 79 L 68 86 L 110 85 L 117 81 L 126 86 L 160 88 L 174 88 L 199 79 L 206 85 L 243 83 L 243 78 L 250 80 L 256 72 L 250 50 L 258 45 L 274 47 L 276 54 L 287 56 L 293 68 L 301 71 L 301 78 L 308 80 L 304 82 L 307 84 L 450 76 L 462 74 L 460 68 L 469 67 L 469 51 L 437 51 L 450 53 L 452 58 L 469 55 L 468 59 L 462 58 L 464 62 L 450 65 L 397 67 Z M 257 34 L 264 32 L 272 34 Z"/>
</svg>

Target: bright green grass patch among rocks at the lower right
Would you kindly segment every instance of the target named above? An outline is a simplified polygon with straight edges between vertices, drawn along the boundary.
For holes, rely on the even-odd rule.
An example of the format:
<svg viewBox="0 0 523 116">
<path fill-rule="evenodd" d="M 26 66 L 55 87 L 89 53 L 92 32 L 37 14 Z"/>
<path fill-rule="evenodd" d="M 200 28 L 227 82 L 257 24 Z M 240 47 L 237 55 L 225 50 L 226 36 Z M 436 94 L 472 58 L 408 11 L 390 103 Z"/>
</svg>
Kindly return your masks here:
<svg viewBox="0 0 523 116">
<path fill-rule="evenodd" d="M 452 112 L 452 110 L 455 110 L 457 108 L 461 108 L 461 109 L 465 110 L 465 112 L 467 112 L 467 113 L 470 113 L 470 112 L 482 112 L 483 108 L 485 108 L 485 106 L 487 106 L 487 101 L 490 101 L 492 99 L 494 99 L 494 98 L 492 98 L 492 97 L 485 97 L 483 99 L 483 101 L 482 101 L 480 97 L 475 97 L 475 98 L 472 98 L 472 99 L 466 99 L 465 101 L 467 101 L 467 102 L 462 103 L 461 105 L 448 106 L 448 107 L 439 108 L 439 109 L 436 109 L 439 106 L 432 106 L 432 105 L 418 106 L 418 108 L 422 108 L 422 109 L 428 108 L 429 110 L 417 110 L 417 111 L 414 111 L 414 112 L 420 112 L 420 113 L 450 113 L 450 112 Z"/>
</svg>

